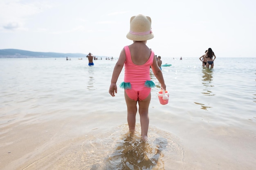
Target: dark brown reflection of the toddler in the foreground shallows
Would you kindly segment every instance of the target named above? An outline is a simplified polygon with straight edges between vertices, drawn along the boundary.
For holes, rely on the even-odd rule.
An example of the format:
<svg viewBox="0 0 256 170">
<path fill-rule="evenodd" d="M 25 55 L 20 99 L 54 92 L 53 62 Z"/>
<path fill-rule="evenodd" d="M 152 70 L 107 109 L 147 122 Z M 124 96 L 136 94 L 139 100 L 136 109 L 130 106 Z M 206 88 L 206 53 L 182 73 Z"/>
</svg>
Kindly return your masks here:
<svg viewBox="0 0 256 170">
<path fill-rule="evenodd" d="M 117 145 L 115 152 L 108 158 L 106 169 L 111 170 L 152 170 L 164 169 L 162 151 L 167 146 L 165 138 L 155 140 L 156 148 L 150 147 L 140 137 L 128 133 Z"/>
</svg>

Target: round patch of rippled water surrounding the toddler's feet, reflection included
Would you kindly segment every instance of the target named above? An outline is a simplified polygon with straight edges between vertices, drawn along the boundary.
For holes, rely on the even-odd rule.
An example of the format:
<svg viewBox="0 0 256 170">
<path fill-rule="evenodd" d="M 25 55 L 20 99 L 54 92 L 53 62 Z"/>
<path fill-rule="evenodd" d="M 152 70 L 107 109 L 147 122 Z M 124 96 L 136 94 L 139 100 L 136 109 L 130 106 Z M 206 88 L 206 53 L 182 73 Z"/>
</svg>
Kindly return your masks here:
<svg viewBox="0 0 256 170">
<path fill-rule="evenodd" d="M 126 124 L 115 127 L 110 134 L 105 132 L 100 139 L 85 141 L 81 146 L 88 157 L 84 162 L 85 169 L 169 170 L 184 163 L 184 150 L 176 137 L 149 126 L 149 139 L 145 142 L 140 137 L 140 124 L 136 124 L 136 128 L 138 131 L 131 135 L 125 132 L 128 129 Z"/>
</svg>

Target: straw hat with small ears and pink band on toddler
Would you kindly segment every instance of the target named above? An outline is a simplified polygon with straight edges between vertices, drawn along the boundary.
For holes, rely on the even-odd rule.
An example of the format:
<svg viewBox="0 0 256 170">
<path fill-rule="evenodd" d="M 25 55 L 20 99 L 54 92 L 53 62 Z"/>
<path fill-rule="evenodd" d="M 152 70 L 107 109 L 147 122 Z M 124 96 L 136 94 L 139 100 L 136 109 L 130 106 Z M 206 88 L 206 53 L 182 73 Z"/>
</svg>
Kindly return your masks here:
<svg viewBox="0 0 256 170">
<path fill-rule="evenodd" d="M 130 31 L 126 38 L 134 41 L 145 41 L 154 38 L 151 31 L 151 18 L 144 15 L 132 16 L 130 19 Z"/>
</svg>

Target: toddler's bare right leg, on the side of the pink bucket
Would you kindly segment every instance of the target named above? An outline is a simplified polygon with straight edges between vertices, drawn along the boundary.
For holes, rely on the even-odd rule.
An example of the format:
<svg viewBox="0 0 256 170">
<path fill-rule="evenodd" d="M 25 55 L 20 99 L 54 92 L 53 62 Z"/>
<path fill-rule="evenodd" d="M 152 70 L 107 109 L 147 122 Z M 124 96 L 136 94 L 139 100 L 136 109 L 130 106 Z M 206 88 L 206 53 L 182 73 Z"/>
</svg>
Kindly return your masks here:
<svg viewBox="0 0 256 170">
<path fill-rule="evenodd" d="M 151 94 L 144 100 L 139 101 L 139 116 L 140 116 L 140 124 L 141 124 L 141 137 L 146 139 L 148 137 L 148 107 L 151 100 Z"/>
</svg>

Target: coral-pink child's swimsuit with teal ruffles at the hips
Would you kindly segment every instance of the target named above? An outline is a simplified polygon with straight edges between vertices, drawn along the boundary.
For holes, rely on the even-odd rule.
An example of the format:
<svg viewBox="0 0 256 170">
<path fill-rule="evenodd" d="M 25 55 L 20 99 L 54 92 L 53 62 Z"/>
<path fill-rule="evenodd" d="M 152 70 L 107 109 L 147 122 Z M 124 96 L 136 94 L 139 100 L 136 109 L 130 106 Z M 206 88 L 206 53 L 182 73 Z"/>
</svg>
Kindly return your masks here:
<svg viewBox="0 0 256 170">
<path fill-rule="evenodd" d="M 142 65 L 136 65 L 132 62 L 130 49 L 124 47 L 126 61 L 124 63 L 124 82 L 120 87 L 124 88 L 128 97 L 133 100 L 144 100 L 150 94 L 151 88 L 155 87 L 150 79 L 150 65 L 153 64 L 155 53 L 151 50 L 148 61 Z"/>
</svg>

